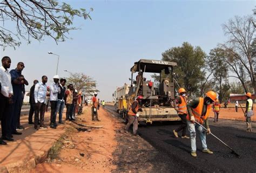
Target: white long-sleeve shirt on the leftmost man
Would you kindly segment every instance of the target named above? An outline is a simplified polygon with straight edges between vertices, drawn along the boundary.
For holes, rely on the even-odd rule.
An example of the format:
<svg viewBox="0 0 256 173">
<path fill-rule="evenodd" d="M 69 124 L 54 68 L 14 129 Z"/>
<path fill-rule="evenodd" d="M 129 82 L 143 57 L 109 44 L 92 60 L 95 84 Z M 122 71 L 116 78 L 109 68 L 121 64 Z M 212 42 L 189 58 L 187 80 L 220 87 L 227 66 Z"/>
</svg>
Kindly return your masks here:
<svg viewBox="0 0 256 173">
<path fill-rule="evenodd" d="M 0 67 L 0 81 L 1 81 L 1 93 L 8 98 L 9 94 L 14 94 L 11 85 L 11 74 L 8 70 L 5 70 L 3 66 Z"/>
</svg>

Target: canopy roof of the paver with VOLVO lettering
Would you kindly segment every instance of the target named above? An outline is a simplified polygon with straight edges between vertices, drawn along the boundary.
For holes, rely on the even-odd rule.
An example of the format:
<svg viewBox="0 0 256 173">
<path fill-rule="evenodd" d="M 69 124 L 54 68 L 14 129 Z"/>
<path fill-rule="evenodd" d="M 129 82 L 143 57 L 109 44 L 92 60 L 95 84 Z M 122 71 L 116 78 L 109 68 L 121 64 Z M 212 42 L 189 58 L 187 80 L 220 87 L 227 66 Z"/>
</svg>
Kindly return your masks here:
<svg viewBox="0 0 256 173">
<path fill-rule="evenodd" d="M 146 68 L 145 68 L 146 66 Z M 152 60 L 152 59 L 140 59 L 135 62 L 131 68 L 132 73 L 139 72 L 142 70 L 147 73 L 161 73 L 162 70 L 168 70 L 168 67 L 177 66 L 177 63 L 170 61 Z"/>
</svg>

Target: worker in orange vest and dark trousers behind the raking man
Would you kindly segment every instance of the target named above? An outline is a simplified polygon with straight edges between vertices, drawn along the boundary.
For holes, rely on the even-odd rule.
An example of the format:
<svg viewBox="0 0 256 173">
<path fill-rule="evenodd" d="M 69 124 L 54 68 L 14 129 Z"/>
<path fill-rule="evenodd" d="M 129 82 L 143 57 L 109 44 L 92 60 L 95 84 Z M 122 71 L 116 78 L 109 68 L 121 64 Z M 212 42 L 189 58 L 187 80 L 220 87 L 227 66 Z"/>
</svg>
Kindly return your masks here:
<svg viewBox="0 0 256 173">
<path fill-rule="evenodd" d="M 186 100 L 186 90 L 184 88 L 179 89 L 179 96 L 176 99 L 176 110 L 178 112 L 178 115 L 181 119 L 181 125 L 173 130 L 173 134 L 176 138 L 178 138 L 178 132 L 182 130 L 181 138 L 190 139 L 190 137 L 186 136 L 187 131 L 187 100 Z"/>
</svg>

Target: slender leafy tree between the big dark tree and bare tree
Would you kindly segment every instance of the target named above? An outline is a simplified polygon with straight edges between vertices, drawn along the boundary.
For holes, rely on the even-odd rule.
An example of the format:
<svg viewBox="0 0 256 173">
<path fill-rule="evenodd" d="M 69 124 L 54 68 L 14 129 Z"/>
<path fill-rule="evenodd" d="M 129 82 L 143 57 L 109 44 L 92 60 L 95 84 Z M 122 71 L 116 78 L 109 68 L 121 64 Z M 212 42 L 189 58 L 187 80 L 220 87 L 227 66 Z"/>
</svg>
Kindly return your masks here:
<svg viewBox="0 0 256 173">
<path fill-rule="evenodd" d="M 216 47 L 210 51 L 209 56 L 207 56 L 206 58 L 208 70 L 212 72 L 214 77 L 213 79 L 218 81 L 217 91 L 219 91 L 218 94 L 219 94 L 220 103 L 222 102 L 222 99 L 224 96 L 222 84 L 224 80 L 227 79 L 227 75 L 228 75 L 227 63 L 224 60 L 225 56 L 226 56 L 225 51 L 220 47 Z"/>
</svg>

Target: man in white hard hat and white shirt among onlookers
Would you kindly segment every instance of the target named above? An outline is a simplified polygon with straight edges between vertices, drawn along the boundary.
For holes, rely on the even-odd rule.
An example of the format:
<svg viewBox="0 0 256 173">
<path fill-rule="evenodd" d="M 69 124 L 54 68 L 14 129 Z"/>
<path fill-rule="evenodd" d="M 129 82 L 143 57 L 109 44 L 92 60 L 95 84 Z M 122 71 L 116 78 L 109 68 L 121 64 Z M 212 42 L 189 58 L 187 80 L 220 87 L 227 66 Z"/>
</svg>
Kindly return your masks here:
<svg viewBox="0 0 256 173">
<path fill-rule="evenodd" d="M 56 108 L 58 101 L 58 85 L 59 85 L 59 76 L 55 75 L 53 77 L 53 82 L 50 86 L 50 103 L 51 103 L 51 123 L 50 128 L 56 129 Z"/>
</svg>

